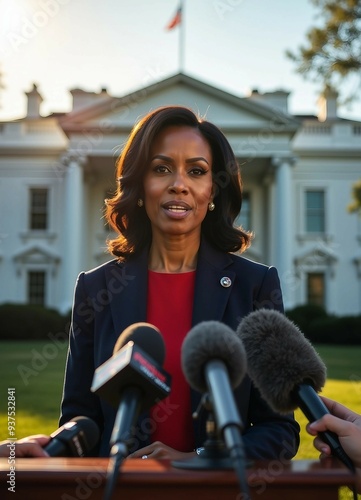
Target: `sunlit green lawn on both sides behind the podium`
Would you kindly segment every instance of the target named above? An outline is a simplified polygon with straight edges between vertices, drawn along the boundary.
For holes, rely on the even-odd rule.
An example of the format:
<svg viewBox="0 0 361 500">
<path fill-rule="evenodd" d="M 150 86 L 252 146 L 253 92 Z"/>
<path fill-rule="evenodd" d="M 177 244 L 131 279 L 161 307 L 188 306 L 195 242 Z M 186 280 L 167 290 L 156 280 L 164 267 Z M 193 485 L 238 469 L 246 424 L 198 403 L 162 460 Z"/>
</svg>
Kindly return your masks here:
<svg viewBox="0 0 361 500">
<path fill-rule="evenodd" d="M 8 437 L 7 393 L 16 394 L 16 437 L 50 434 L 58 426 L 66 344 L 63 341 L 0 342 L 0 440 Z M 322 394 L 361 413 L 361 346 L 316 346 L 327 366 Z M 317 459 L 306 418 L 296 410 L 301 445 L 295 459 Z M 342 491 L 340 498 L 352 498 Z M 360 497 L 361 498 L 361 497 Z"/>
</svg>

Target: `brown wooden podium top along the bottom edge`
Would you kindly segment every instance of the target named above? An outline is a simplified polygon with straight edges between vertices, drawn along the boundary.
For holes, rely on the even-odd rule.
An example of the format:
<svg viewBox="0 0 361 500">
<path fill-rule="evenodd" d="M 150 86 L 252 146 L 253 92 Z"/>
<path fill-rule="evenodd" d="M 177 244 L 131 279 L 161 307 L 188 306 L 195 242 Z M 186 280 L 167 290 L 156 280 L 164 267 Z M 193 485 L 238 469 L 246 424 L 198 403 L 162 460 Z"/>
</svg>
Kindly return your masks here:
<svg viewBox="0 0 361 500">
<path fill-rule="evenodd" d="M 15 494 L 7 459 L 0 459 L 0 498 L 16 500 L 101 500 L 107 458 L 18 458 Z M 246 472 L 254 500 L 337 500 L 340 486 L 354 485 L 336 459 L 255 462 Z M 168 460 L 128 459 L 121 467 L 114 499 L 239 500 L 233 470 L 175 468 Z"/>
</svg>

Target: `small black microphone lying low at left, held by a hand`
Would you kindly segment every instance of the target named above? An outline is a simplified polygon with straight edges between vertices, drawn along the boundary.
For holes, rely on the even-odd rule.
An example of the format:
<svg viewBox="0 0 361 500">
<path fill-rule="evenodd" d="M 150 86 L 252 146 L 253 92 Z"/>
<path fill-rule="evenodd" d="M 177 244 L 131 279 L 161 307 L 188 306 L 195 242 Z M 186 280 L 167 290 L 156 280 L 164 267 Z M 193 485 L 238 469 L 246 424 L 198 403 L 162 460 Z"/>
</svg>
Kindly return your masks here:
<svg viewBox="0 0 361 500">
<path fill-rule="evenodd" d="M 44 450 L 51 457 L 84 457 L 99 441 L 99 428 L 94 420 L 75 417 L 50 434 Z"/>
</svg>

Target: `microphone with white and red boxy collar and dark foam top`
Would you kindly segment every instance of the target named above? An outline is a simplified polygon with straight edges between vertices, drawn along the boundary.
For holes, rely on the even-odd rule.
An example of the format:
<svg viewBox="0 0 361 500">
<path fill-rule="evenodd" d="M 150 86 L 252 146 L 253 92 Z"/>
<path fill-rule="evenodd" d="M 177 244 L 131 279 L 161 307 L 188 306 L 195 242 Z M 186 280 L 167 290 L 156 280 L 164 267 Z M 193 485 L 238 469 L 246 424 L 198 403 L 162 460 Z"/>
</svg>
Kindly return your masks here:
<svg viewBox="0 0 361 500">
<path fill-rule="evenodd" d="M 159 330 L 135 323 L 119 336 L 113 356 L 95 370 L 91 390 L 118 408 L 110 444 L 117 444 L 124 457 L 139 414 L 170 394 L 171 376 L 160 366 L 164 357 Z"/>
</svg>

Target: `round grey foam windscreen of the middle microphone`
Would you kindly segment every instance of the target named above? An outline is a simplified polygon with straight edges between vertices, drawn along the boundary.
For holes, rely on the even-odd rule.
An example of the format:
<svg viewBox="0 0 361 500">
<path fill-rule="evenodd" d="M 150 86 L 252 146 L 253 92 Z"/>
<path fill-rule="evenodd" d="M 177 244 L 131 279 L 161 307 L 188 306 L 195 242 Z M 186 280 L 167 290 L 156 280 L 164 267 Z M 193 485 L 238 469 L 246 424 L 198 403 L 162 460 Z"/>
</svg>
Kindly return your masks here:
<svg viewBox="0 0 361 500">
<path fill-rule="evenodd" d="M 203 321 L 189 331 L 182 344 L 182 369 L 193 389 L 207 392 L 204 367 L 213 359 L 224 362 L 232 387 L 237 387 L 247 369 L 242 342 L 224 323 Z"/>
</svg>

